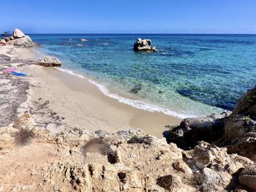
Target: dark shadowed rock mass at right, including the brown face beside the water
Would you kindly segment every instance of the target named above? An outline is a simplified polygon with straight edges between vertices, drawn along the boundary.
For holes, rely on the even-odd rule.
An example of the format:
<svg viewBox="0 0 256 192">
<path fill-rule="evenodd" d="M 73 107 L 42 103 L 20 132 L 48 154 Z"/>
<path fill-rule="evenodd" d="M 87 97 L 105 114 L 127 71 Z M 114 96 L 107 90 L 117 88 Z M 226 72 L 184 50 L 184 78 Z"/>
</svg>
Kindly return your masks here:
<svg viewBox="0 0 256 192">
<path fill-rule="evenodd" d="M 256 87 L 239 99 L 232 113 L 184 119 L 168 138 L 186 150 L 201 140 L 213 142 L 256 161 Z"/>
</svg>

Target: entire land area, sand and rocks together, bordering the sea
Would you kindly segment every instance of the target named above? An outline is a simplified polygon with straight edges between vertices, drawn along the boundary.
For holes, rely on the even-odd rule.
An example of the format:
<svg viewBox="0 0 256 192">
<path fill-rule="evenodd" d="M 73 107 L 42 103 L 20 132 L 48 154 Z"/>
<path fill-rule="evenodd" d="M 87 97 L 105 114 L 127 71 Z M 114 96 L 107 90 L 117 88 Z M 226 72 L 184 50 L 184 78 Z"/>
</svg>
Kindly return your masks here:
<svg viewBox="0 0 256 192">
<path fill-rule="evenodd" d="M 180 120 L 54 66 L 0 47 L 0 191 L 256 191 L 256 87 L 233 112 Z"/>
</svg>

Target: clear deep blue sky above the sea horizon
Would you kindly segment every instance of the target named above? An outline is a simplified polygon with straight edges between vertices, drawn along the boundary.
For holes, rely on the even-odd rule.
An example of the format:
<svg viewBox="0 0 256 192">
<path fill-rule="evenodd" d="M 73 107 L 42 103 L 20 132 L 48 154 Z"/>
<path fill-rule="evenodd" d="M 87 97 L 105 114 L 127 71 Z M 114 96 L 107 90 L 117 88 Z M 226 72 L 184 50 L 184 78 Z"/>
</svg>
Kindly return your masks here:
<svg viewBox="0 0 256 192">
<path fill-rule="evenodd" d="M 256 0 L 12 0 L 0 20 L 0 32 L 256 34 Z"/>
</svg>

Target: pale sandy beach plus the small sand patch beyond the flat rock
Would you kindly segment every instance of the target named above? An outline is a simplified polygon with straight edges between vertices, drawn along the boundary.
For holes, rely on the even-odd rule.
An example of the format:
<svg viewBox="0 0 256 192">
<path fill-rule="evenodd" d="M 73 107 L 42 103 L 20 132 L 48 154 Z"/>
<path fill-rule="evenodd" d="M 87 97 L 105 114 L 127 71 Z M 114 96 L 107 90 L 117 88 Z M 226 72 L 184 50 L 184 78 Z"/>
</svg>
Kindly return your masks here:
<svg viewBox="0 0 256 192">
<path fill-rule="evenodd" d="M 2 47 L 0 54 L 13 60 L 33 60 L 37 54 L 30 48 Z M 12 64 L 13 65 L 13 64 Z M 53 133 L 67 128 L 83 128 L 92 132 L 99 129 L 116 132 L 140 128 L 146 134 L 162 138 L 166 125 L 179 124 L 181 119 L 160 112 L 148 112 L 121 104 L 105 96 L 87 79 L 45 68 L 24 64 L 20 72 L 29 74 L 31 83 L 27 107 L 39 124 L 45 124 Z M 23 104 L 24 105 L 24 104 Z M 23 107 L 23 111 L 26 107 Z"/>
</svg>

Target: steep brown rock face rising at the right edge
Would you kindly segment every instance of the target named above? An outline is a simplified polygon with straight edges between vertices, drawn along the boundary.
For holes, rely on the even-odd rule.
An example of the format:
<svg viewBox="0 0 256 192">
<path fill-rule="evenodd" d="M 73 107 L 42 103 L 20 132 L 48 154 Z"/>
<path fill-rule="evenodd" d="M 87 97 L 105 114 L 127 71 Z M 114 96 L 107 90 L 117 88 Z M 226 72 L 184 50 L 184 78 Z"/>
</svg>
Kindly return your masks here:
<svg viewBox="0 0 256 192">
<path fill-rule="evenodd" d="M 229 153 L 256 161 L 256 87 L 239 99 L 235 110 L 225 120 L 224 130 L 223 142 Z"/>
</svg>

